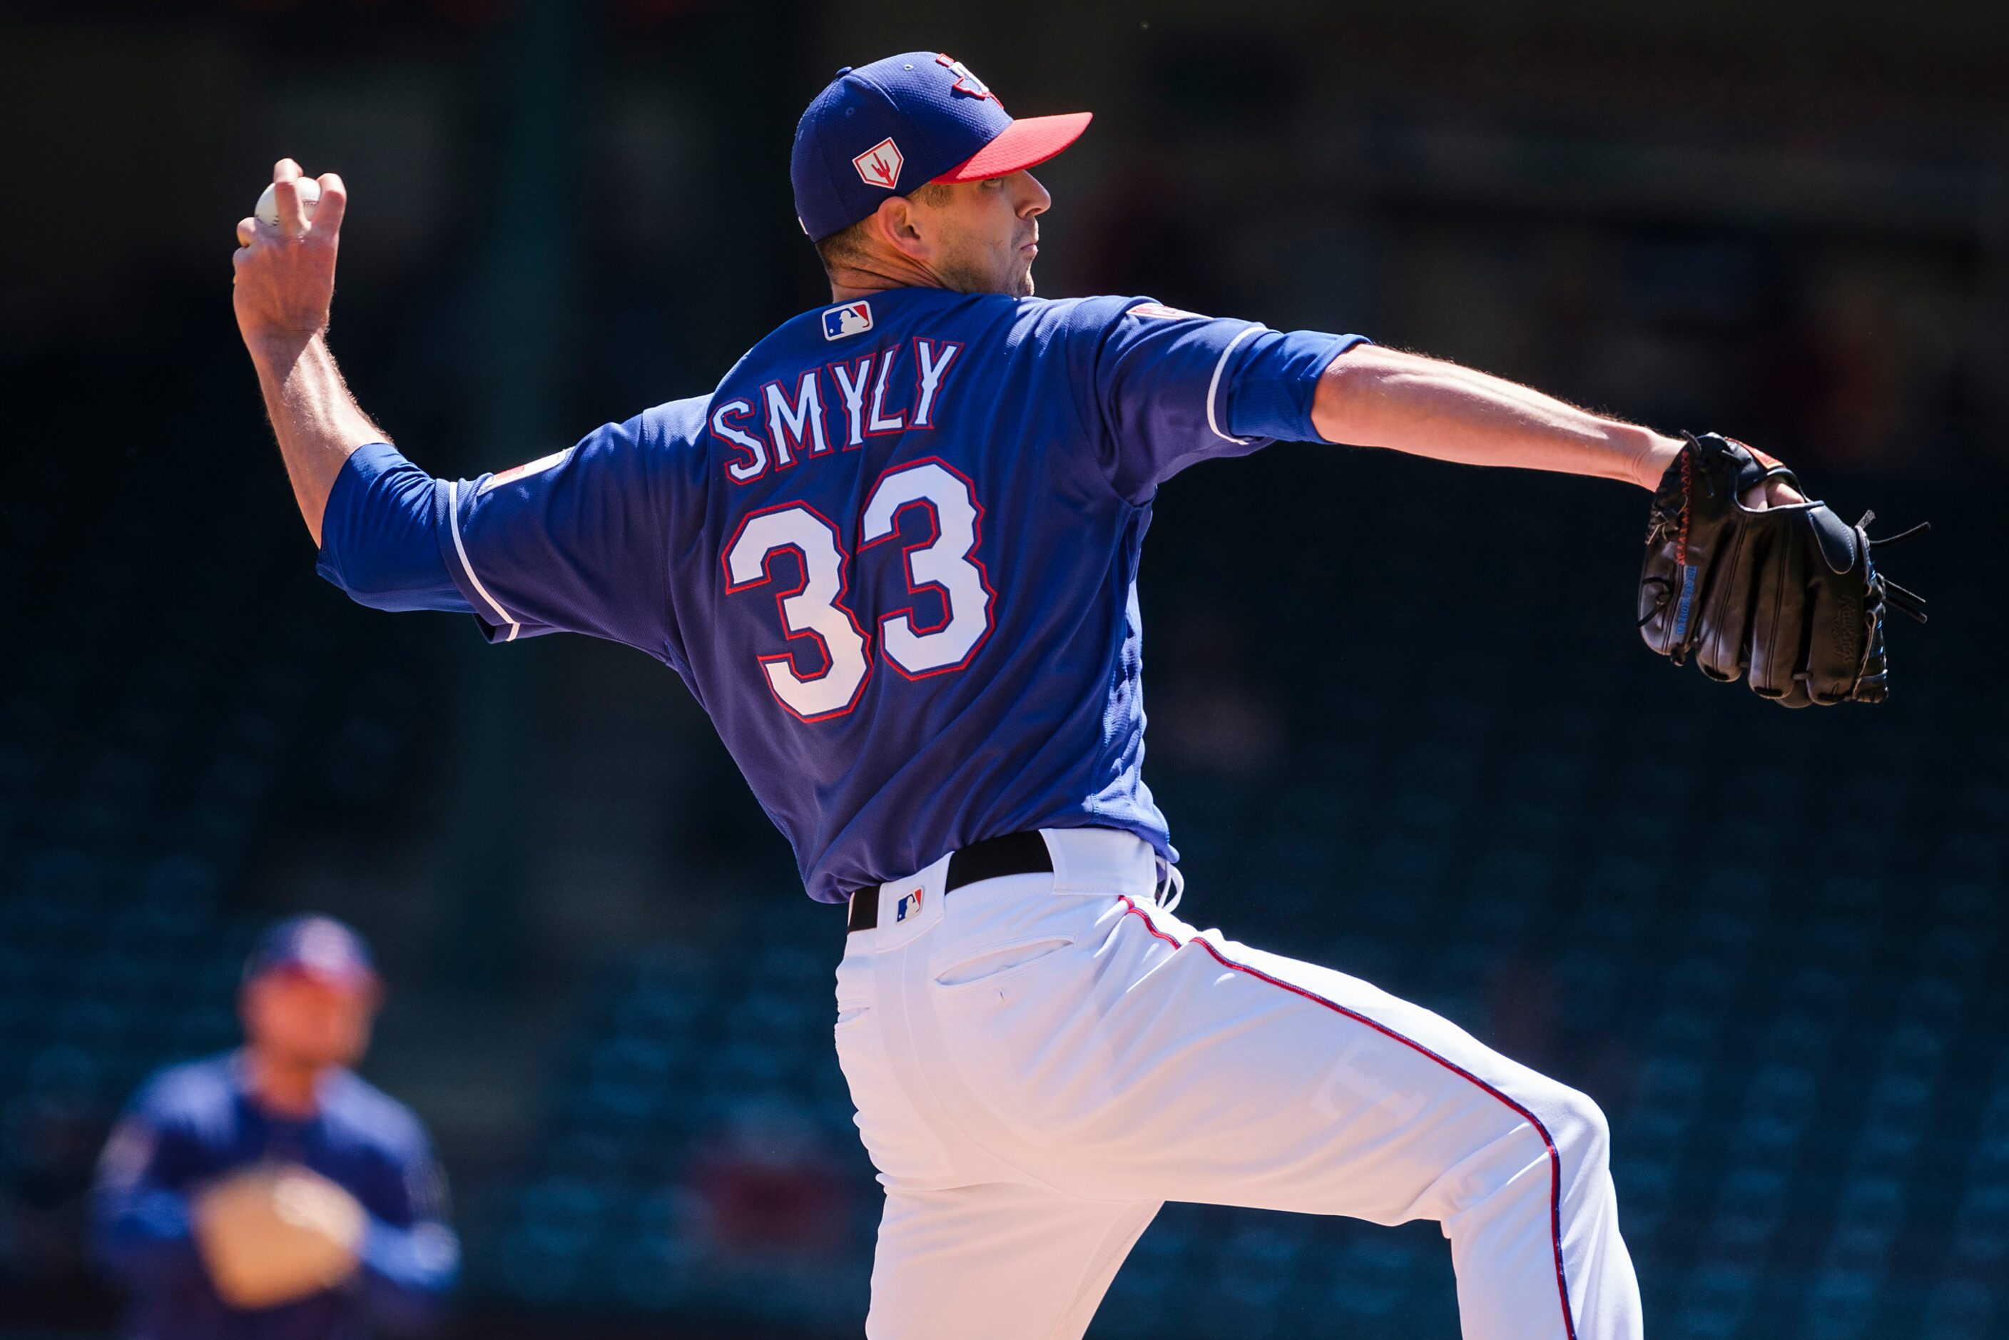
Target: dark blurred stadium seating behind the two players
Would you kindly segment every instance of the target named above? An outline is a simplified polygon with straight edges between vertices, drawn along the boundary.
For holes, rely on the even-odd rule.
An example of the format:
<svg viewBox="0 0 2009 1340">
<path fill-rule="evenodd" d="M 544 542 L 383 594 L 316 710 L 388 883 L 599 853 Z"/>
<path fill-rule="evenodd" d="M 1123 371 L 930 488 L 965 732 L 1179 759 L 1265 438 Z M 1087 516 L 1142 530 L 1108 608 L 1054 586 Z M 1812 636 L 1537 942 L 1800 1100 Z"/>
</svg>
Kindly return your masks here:
<svg viewBox="0 0 2009 1340">
<path fill-rule="evenodd" d="M 2009 8 L 1868 0 L 0 8 L 0 1332 L 104 1334 L 110 1115 L 235 1037 L 251 928 L 388 962 L 464 1336 L 840 1336 L 878 1191 L 840 914 L 673 675 L 313 577 L 229 309 L 279 155 L 331 344 L 438 474 L 705 392 L 824 301 L 838 64 L 1093 108 L 1039 285 L 1358 329 L 1937 532 L 1896 695 L 1786 713 L 1631 629 L 1645 498 L 1278 446 L 1169 484 L 1183 914 L 1446 1013 L 1615 1125 L 1657 1336 L 2009 1336 Z M 1171 1205 L 1095 1336 L 1457 1334 L 1428 1225 Z"/>
</svg>

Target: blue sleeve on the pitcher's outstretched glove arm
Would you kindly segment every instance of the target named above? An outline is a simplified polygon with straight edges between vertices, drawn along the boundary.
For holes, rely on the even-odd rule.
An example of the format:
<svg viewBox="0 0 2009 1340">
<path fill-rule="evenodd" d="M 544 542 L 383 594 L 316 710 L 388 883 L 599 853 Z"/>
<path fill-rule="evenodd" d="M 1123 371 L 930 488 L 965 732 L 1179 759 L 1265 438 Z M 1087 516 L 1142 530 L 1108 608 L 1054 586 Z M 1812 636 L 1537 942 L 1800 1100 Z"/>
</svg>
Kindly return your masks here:
<svg viewBox="0 0 2009 1340">
<path fill-rule="evenodd" d="M 1103 426 L 1103 466 L 1131 502 L 1213 456 L 1318 440 L 1312 392 L 1360 336 L 1274 331 L 1139 297 L 1089 299 L 1069 331 L 1077 388 Z"/>
</svg>

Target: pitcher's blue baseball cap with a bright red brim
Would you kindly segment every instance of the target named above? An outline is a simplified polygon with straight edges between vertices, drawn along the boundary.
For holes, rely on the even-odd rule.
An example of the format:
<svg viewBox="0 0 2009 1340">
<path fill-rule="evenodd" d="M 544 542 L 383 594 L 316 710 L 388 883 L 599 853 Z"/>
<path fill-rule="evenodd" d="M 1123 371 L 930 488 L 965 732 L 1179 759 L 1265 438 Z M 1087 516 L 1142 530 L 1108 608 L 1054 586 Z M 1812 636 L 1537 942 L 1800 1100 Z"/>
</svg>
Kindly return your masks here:
<svg viewBox="0 0 2009 1340">
<path fill-rule="evenodd" d="M 930 181 L 982 181 L 1045 163 L 1081 139 L 1091 117 L 1015 121 L 966 64 L 932 50 L 844 66 L 796 127 L 788 163 L 796 219 L 822 241 Z"/>
</svg>

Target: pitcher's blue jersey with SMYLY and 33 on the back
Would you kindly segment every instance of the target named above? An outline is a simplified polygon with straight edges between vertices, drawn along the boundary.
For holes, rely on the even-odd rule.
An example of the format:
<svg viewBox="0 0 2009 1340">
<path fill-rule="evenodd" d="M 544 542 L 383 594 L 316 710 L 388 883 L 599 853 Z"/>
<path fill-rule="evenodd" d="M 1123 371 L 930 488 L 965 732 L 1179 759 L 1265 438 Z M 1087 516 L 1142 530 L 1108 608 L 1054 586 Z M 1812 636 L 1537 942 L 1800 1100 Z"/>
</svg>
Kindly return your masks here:
<svg viewBox="0 0 2009 1340">
<path fill-rule="evenodd" d="M 1356 340 L 1137 297 L 872 293 L 502 474 L 358 450 L 321 573 L 492 641 L 591 633 L 671 665 L 812 898 L 1031 828 L 1175 860 L 1141 771 L 1153 494 L 1316 440 L 1314 386 Z"/>
</svg>

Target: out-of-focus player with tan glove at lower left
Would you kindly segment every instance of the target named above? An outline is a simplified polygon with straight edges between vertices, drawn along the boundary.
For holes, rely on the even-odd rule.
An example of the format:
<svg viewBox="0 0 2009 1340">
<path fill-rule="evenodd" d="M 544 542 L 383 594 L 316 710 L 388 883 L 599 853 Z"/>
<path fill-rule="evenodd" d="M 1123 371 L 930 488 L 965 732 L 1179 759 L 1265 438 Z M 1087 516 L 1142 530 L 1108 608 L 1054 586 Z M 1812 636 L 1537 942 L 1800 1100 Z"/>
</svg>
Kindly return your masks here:
<svg viewBox="0 0 2009 1340">
<path fill-rule="evenodd" d="M 428 1328 L 460 1268 L 418 1117 L 350 1067 L 384 990 L 362 936 L 283 920 L 245 964 L 245 1045 L 155 1075 L 98 1159 L 127 1334 L 327 1340 Z"/>
</svg>

